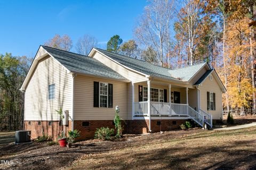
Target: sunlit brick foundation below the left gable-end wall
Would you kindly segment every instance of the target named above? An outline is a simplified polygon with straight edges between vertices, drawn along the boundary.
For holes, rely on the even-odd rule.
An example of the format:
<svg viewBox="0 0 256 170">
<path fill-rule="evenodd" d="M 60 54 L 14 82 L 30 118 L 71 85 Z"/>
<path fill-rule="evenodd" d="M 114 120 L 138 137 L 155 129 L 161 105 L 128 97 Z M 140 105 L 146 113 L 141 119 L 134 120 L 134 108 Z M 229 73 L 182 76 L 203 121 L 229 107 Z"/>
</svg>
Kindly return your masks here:
<svg viewBox="0 0 256 170">
<path fill-rule="evenodd" d="M 29 125 L 29 122 L 31 124 Z M 44 134 L 51 135 L 53 140 L 58 140 L 58 136 L 61 134 L 62 130 L 64 130 L 64 126 L 59 125 L 60 121 L 52 121 L 52 125 L 48 123 L 50 121 L 40 121 L 41 125 L 38 125 L 39 121 L 24 121 L 25 130 L 31 131 L 31 139 L 36 139 L 41 137 Z M 72 122 L 69 121 L 68 126 L 66 126 L 66 134 L 69 130 L 71 130 Z"/>
</svg>

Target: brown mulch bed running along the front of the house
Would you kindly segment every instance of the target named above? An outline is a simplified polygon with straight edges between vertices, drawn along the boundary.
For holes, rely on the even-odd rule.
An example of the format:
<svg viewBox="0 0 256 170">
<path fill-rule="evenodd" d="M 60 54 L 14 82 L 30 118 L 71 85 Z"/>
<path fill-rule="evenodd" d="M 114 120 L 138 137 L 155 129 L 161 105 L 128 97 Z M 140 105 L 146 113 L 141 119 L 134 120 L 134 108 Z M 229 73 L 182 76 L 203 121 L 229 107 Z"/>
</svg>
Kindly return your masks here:
<svg viewBox="0 0 256 170">
<path fill-rule="evenodd" d="M 0 147 L 0 160 L 12 160 L 12 165 L 0 164 L 0 169 L 59 169 L 69 166 L 74 160 L 84 155 L 98 154 L 126 147 L 141 146 L 148 143 L 161 142 L 182 137 L 182 135 L 202 131 L 169 131 L 163 134 L 124 135 L 123 141 L 86 140 L 75 143 L 72 148 L 48 146 L 46 143 L 30 143 Z"/>
</svg>

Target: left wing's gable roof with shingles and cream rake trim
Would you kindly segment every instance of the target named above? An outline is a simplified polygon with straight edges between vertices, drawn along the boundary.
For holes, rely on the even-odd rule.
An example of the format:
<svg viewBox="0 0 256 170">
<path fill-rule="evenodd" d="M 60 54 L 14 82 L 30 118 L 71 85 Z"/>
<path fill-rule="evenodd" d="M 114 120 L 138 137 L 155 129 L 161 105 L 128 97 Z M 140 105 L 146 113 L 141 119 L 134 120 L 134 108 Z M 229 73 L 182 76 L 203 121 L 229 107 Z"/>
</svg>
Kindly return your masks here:
<svg viewBox="0 0 256 170">
<path fill-rule="evenodd" d="M 43 54 L 43 55 L 42 55 Z M 25 90 L 30 76 L 34 72 L 34 69 L 39 60 L 43 57 L 50 55 L 57 62 L 59 62 L 70 73 L 81 73 L 86 75 L 93 75 L 98 77 L 117 79 L 129 82 L 121 74 L 118 74 L 114 70 L 110 69 L 105 64 L 99 62 L 95 58 L 66 52 L 64 50 L 51 48 L 47 46 L 40 46 L 33 63 L 30 66 L 29 72 L 22 83 L 21 90 Z"/>
</svg>

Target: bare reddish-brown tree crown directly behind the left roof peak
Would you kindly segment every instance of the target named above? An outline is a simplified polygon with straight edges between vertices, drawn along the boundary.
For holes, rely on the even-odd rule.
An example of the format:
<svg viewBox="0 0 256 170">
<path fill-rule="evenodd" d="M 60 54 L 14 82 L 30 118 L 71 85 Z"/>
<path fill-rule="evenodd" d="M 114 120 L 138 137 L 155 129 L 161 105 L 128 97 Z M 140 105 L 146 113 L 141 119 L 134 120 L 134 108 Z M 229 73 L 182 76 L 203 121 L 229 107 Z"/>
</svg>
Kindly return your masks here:
<svg viewBox="0 0 256 170">
<path fill-rule="evenodd" d="M 61 37 L 60 35 L 57 34 L 52 39 L 47 41 L 44 45 L 53 47 L 53 48 L 62 49 L 65 51 L 70 51 L 70 49 L 72 48 L 73 42 L 68 35 L 63 35 Z"/>
</svg>

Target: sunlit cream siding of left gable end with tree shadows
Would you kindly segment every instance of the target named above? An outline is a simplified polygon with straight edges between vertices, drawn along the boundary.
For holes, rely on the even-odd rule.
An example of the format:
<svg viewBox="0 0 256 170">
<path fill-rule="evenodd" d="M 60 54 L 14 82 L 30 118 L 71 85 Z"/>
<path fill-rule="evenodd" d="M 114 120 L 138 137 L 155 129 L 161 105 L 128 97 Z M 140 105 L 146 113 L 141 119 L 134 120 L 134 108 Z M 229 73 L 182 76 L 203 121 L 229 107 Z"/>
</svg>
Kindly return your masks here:
<svg viewBox="0 0 256 170">
<path fill-rule="evenodd" d="M 55 99 L 48 99 L 48 86 L 55 84 Z M 25 91 L 25 121 L 58 121 L 55 110 L 71 111 L 71 75 L 50 56 L 40 60 Z"/>
</svg>

